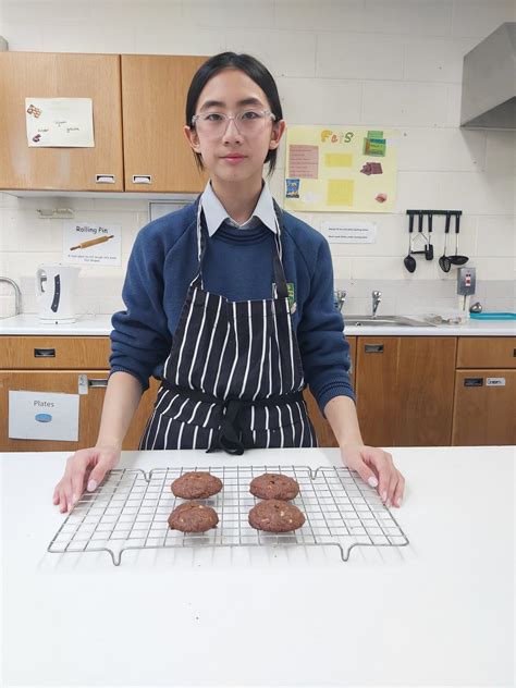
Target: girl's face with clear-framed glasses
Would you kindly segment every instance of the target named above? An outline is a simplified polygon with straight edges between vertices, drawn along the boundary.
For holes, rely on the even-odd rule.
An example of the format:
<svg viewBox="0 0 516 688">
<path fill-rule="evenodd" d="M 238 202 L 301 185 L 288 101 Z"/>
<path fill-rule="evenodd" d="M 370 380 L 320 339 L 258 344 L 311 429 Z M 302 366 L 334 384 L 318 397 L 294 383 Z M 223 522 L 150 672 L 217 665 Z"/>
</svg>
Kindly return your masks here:
<svg viewBox="0 0 516 688">
<path fill-rule="evenodd" d="M 236 115 L 238 112 L 270 110 L 263 90 L 245 72 L 236 69 L 222 70 L 212 76 L 200 91 L 196 114 L 208 112 Z M 185 135 L 212 180 L 220 182 L 255 182 L 263 171 L 263 161 L 269 150 L 278 148 L 285 130 L 283 120 L 273 122 L 266 116 L 263 125 L 248 134 L 238 131 L 235 120 L 228 120 L 220 131 L 208 127 L 185 126 Z M 246 128 L 241 126 L 241 128 Z"/>
</svg>

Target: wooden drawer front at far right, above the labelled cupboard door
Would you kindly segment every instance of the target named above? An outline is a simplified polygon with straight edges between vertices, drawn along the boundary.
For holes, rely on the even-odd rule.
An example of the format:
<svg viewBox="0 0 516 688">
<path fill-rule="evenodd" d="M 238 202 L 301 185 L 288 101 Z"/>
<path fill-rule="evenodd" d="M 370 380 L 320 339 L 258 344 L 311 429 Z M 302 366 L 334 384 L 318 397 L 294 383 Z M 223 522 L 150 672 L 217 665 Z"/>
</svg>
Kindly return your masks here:
<svg viewBox="0 0 516 688">
<path fill-rule="evenodd" d="M 516 336 L 460 336 L 457 368 L 516 368 Z"/>
</svg>

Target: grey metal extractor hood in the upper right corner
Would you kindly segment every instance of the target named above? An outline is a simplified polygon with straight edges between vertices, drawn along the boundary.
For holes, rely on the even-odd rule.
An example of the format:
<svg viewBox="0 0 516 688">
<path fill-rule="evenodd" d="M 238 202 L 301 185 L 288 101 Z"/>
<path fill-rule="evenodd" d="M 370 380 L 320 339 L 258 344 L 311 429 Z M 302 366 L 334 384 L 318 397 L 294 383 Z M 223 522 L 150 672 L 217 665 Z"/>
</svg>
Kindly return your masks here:
<svg viewBox="0 0 516 688">
<path fill-rule="evenodd" d="M 516 130 L 516 22 L 464 57 L 460 126 Z"/>
</svg>

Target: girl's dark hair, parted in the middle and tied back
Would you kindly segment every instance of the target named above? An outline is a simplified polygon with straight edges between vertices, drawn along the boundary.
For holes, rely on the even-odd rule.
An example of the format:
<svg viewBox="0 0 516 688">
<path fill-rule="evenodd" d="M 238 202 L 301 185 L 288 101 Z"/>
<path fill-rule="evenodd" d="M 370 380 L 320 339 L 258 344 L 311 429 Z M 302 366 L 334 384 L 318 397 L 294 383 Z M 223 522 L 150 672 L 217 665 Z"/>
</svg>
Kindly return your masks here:
<svg viewBox="0 0 516 688">
<path fill-rule="evenodd" d="M 188 88 L 188 95 L 186 96 L 186 125 L 192 126 L 192 118 L 195 114 L 197 101 L 199 100 L 200 93 L 209 79 L 226 69 L 242 70 L 249 78 L 251 78 L 261 90 L 266 94 L 269 100 L 269 106 L 272 114 L 275 115 L 275 120 L 283 119 L 283 111 L 281 109 L 280 96 L 278 95 L 278 87 L 274 82 L 274 77 L 269 70 L 256 58 L 249 54 L 237 54 L 236 52 L 220 52 L 213 56 L 206 62 L 204 62 L 197 72 L 194 74 L 192 84 Z M 204 170 L 202 157 L 200 153 L 195 152 L 195 161 L 199 170 Z M 269 163 L 268 176 L 271 176 L 275 169 L 278 156 L 278 148 L 269 150 L 263 163 Z"/>
</svg>

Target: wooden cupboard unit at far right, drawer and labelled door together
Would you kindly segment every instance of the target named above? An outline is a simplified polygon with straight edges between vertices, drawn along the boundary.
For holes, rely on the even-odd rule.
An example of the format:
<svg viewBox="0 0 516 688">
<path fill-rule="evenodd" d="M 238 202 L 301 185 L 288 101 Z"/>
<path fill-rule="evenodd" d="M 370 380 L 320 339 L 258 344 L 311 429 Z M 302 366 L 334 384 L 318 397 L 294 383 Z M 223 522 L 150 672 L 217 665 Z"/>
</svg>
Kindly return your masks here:
<svg viewBox="0 0 516 688">
<path fill-rule="evenodd" d="M 459 339 L 452 444 L 516 444 L 516 337 Z"/>
</svg>

